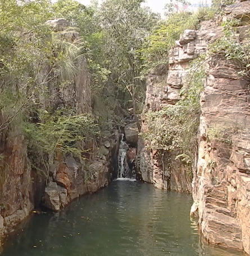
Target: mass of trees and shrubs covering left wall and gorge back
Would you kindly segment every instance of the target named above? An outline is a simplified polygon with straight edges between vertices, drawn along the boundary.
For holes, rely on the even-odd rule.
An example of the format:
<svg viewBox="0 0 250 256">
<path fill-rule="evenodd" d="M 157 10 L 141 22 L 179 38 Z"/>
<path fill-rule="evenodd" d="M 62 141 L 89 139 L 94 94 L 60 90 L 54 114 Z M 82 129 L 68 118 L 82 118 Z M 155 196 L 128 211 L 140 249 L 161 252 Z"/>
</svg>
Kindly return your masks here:
<svg viewBox="0 0 250 256">
<path fill-rule="evenodd" d="M 133 106 L 137 118 L 145 83 L 136 51 L 160 19 L 142 2 L 107 0 L 98 7 L 93 1 L 86 7 L 73 0 L 0 0 L 2 142 L 24 133 L 31 165 L 48 171 L 58 151 L 84 159 L 88 142 L 110 136 L 125 107 Z M 46 21 L 54 17 L 66 19 L 67 29 L 52 29 Z M 79 115 L 63 97 L 83 58 L 93 113 Z"/>
</svg>

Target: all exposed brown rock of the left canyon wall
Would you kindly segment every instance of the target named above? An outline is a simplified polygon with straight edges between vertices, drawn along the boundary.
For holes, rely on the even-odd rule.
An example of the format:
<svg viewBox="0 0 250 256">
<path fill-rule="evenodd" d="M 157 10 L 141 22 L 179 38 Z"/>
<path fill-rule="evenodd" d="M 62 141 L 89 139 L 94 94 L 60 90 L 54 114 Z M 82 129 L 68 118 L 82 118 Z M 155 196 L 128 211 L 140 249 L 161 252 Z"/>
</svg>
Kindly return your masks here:
<svg viewBox="0 0 250 256">
<path fill-rule="evenodd" d="M 67 25 L 62 19 L 52 20 L 49 24 L 57 30 Z M 62 104 L 75 109 L 79 115 L 92 111 L 90 74 L 84 57 L 78 61 L 78 70 L 74 82 L 67 84 L 60 93 L 49 82 L 44 84 L 51 95 L 56 95 L 49 98 L 45 103 L 47 106 L 58 107 Z M 44 67 L 40 80 L 43 81 L 49 72 L 49 67 Z M 80 145 L 79 142 L 79 147 L 90 149 L 85 155 L 87 160 L 80 160 L 72 154 L 63 156 L 56 149 L 56 157 L 52 159 L 49 169 L 44 165 L 39 165 L 39 169 L 33 167 L 30 158 L 39 160 L 42 156 L 36 155 L 37 152 L 28 152 L 28 141 L 18 125 L 3 134 L 0 141 L 0 154 L 4 155 L 0 159 L 0 239 L 33 209 L 45 206 L 58 211 L 76 197 L 107 186 L 111 179 L 117 137 L 118 134 L 114 133 L 112 138 L 98 143 L 90 140 L 88 145 Z"/>
</svg>

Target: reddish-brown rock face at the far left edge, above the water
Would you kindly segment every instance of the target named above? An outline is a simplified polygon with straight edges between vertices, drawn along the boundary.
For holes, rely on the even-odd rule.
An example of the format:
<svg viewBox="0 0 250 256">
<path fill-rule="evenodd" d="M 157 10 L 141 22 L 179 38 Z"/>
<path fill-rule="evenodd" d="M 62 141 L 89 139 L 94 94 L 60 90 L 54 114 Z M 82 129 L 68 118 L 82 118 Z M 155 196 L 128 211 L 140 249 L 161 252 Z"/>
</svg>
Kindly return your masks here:
<svg viewBox="0 0 250 256">
<path fill-rule="evenodd" d="M 24 219 L 34 207 L 34 184 L 24 136 L 9 137 L 2 145 L 0 237 Z"/>
</svg>

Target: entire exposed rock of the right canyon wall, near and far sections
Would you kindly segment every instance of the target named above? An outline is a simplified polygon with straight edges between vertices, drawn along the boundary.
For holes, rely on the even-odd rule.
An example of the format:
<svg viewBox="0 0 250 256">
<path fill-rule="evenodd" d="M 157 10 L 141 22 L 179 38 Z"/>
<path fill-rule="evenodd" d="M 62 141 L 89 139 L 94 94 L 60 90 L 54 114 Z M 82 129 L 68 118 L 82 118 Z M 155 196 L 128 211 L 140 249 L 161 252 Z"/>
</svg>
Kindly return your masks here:
<svg viewBox="0 0 250 256">
<path fill-rule="evenodd" d="M 238 42 L 249 41 L 250 1 L 224 8 L 224 17 L 240 20 Z M 180 100 L 180 88 L 190 61 L 207 52 L 208 44 L 222 37 L 217 21 L 204 21 L 199 30 L 185 30 L 170 52 L 169 68 L 161 74 L 152 71 L 147 79 L 145 112 L 158 111 Z M 250 253 L 250 148 L 249 83 L 239 75 L 240 64 L 214 55 L 205 62 L 207 79 L 201 96 L 198 154 L 193 165 L 193 181 L 187 166 L 169 152 L 169 180 L 162 185 L 162 161 L 150 142 L 139 139 L 138 170 L 142 179 L 157 188 L 192 191 L 192 215 L 208 242 Z M 163 83 L 162 83 L 163 81 Z M 143 120 L 142 131 L 147 131 Z M 216 133 L 222 134 L 219 138 Z M 223 134 L 224 137 L 223 137 Z M 168 185 L 169 183 L 169 185 Z"/>
</svg>

